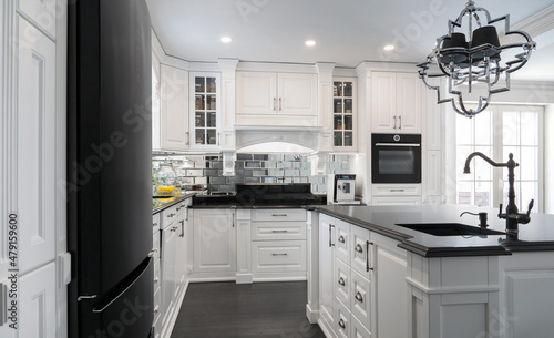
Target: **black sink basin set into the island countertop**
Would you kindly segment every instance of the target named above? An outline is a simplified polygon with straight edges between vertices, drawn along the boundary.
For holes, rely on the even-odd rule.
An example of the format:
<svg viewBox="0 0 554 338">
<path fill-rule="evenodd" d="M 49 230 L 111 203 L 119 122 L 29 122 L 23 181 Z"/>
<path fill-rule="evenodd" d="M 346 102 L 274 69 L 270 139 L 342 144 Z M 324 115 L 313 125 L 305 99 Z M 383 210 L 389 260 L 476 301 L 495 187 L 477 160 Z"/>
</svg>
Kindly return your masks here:
<svg viewBox="0 0 554 338">
<path fill-rule="evenodd" d="M 412 231 L 422 232 L 433 236 L 483 236 L 483 235 L 505 235 L 505 233 L 491 231 L 478 226 L 461 223 L 410 223 L 397 224 Z"/>
</svg>

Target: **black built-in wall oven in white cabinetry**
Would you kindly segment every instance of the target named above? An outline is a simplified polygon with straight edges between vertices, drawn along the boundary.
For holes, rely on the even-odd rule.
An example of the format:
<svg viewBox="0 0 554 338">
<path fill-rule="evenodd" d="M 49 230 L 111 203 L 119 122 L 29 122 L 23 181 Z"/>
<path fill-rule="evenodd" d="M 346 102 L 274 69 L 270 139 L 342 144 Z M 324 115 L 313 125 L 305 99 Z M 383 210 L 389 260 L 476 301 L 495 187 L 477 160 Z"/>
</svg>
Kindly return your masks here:
<svg viewBox="0 0 554 338">
<path fill-rule="evenodd" d="M 421 134 L 371 134 L 372 183 L 421 183 Z"/>
</svg>

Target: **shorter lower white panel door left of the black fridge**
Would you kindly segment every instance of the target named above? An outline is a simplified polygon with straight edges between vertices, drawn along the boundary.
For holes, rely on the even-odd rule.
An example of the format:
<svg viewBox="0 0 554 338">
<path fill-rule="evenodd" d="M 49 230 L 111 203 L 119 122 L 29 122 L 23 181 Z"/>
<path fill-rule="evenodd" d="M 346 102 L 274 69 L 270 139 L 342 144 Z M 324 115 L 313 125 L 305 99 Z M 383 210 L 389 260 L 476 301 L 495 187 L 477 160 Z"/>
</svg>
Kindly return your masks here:
<svg viewBox="0 0 554 338">
<path fill-rule="evenodd" d="M 20 289 L 19 337 L 57 338 L 54 263 L 21 277 Z"/>
</svg>

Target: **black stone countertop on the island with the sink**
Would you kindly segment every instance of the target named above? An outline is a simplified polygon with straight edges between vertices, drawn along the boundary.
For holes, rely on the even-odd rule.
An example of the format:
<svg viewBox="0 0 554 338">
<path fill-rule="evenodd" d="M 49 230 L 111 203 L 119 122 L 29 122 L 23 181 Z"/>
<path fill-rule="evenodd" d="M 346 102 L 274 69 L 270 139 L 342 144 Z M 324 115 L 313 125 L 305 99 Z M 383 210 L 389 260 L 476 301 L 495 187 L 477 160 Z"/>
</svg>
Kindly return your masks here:
<svg viewBox="0 0 554 338">
<path fill-rule="evenodd" d="M 478 216 L 462 212 L 486 212 L 489 229 L 505 232 L 499 209 L 466 205 L 439 206 L 314 206 L 316 211 L 366 227 L 400 242 L 399 247 L 424 257 L 497 256 L 512 252 L 554 250 L 554 215 L 531 214 L 529 224 L 520 224 L 517 238 L 507 235 L 434 236 L 397 224 L 462 223 L 479 226 Z"/>
</svg>

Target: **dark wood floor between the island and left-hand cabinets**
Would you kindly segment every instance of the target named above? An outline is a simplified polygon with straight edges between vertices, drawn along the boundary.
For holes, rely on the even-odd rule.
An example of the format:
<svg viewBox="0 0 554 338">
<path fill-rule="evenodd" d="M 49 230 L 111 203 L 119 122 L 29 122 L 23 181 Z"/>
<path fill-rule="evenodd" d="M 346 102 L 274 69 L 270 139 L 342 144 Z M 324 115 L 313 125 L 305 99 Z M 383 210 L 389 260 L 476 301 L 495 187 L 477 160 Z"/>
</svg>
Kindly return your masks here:
<svg viewBox="0 0 554 338">
<path fill-rule="evenodd" d="M 306 281 L 191 284 L 171 338 L 325 338 L 306 293 Z"/>
</svg>

